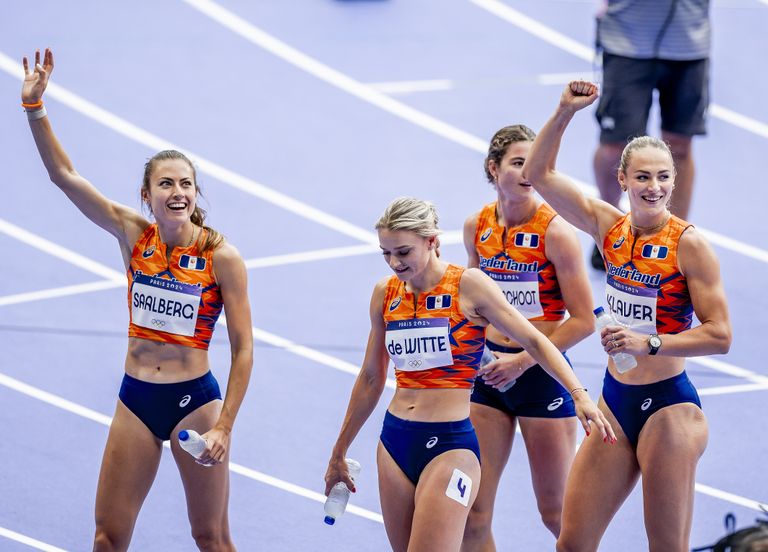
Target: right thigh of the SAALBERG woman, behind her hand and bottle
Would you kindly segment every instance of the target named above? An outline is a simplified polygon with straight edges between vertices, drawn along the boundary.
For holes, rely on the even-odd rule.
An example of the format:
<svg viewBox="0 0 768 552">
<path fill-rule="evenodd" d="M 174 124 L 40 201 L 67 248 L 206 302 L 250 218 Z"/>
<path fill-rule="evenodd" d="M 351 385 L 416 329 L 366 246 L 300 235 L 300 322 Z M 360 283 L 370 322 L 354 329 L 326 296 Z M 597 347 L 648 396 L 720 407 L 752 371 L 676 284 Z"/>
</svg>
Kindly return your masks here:
<svg viewBox="0 0 768 552">
<path fill-rule="evenodd" d="M 224 461 L 214 466 L 201 466 L 179 446 L 179 431 L 194 429 L 200 434 L 210 430 L 221 412 L 221 400 L 211 401 L 187 414 L 171 433 L 171 450 L 179 468 L 184 493 L 187 499 L 187 514 L 192 524 L 192 531 L 206 527 L 218 530 L 227 523 L 227 502 L 229 500 L 229 450 Z"/>
</svg>

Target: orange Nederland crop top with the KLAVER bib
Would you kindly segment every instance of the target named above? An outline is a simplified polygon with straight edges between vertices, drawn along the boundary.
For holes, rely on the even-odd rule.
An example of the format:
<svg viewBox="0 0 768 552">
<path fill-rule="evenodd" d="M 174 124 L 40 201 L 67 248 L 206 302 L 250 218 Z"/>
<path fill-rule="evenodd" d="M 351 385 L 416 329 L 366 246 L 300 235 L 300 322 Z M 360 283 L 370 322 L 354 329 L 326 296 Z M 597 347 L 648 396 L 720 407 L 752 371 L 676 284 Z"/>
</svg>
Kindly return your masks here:
<svg viewBox="0 0 768 552">
<path fill-rule="evenodd" d="M 611 227 L 603 257 L 606 301 L 616 320 L 648 334 L 691 327 L 693 304 L 677 260 L 680 236 L 690 226 L 673 215 L 655 234 L 635 237 L 627 214 Z"/>
</svg>

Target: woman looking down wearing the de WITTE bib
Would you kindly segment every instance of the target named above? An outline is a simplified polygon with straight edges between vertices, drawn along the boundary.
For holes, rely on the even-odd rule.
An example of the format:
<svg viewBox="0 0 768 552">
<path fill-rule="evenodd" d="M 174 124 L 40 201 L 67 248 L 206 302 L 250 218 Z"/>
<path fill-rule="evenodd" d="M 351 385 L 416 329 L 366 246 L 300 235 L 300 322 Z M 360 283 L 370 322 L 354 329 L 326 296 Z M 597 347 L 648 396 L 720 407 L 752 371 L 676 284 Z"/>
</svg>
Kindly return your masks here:
<svg viewBox="0 0 768 552">
<path fill-rule="evenodd" d="M 458 550 L 480 483 L 469 396 L 489 323 L 570 390 L 587 434 L 613 439 L 613 433 L 562 354 L 493 281 L 438 258 L 431 203 L 398 198 L 376 229 L 395 274 L 373 291 L 365 359 L 328 463 L 326 494 L 339 481 L 354 490 L 344 457 L 381 396 L 391 359 L 397 390 L 377 452 L 387 536 L 398 552 Z"/>
</svg>

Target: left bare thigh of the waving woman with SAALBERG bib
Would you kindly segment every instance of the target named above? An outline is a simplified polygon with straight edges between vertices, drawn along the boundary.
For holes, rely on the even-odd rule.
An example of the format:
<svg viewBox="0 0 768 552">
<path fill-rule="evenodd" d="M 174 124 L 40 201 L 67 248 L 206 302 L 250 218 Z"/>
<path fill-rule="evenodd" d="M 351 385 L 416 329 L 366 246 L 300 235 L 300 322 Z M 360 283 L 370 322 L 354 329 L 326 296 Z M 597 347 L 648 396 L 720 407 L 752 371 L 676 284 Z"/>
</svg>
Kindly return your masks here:
<svg viewBox="0 0 768 552">
<path fill-rule="evenodd" d="M 96 490 L 96 524 L 109 533 L 132 531 L 157 475 L 162 443 L 117 401 Z"/>
</svg>

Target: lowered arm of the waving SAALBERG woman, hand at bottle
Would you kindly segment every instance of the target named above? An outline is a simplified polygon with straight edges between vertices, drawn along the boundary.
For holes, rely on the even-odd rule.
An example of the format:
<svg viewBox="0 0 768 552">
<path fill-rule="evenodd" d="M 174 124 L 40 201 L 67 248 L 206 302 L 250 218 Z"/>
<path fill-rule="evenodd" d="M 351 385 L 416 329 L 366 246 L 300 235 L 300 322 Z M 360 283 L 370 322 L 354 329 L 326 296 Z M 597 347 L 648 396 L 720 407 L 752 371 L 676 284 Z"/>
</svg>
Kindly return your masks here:
<svg viewBox="0 0 768 552">
<path fill-rule="evenodd" d="M 224 243 L 213 253 L 216 281 L 221 288 L 232 363 L 219 419 L 204 437 L 208 442 L 201 463 L 208 459 L 221 462 L 229 449 L 235 418 L 248 389 L 253 367 L 253 329 L 248 302 L 248 277 L 242 257 L 232 245 Z"/>
</svg>

